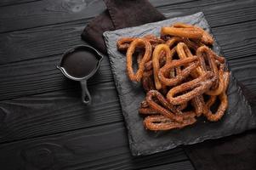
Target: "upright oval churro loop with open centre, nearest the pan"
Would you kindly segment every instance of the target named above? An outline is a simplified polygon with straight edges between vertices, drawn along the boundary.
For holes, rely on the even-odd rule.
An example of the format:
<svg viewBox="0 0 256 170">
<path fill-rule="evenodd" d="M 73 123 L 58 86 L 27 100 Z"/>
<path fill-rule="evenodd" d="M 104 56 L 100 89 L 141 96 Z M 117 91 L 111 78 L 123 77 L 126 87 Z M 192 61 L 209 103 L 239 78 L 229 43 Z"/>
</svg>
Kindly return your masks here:
<svg viewBox="0 0 256 170">
<path fill-rule="evenodd" d="M 134 74 L 133 54 L 134 54 L 135 48 L 139 45 L 144 46 L 145 53 L 139 63 L 138 71 Z M 145 70 L 145 66 L 144 66 L 145 62 L 151 59 L 151 53 L 152 53 L 151 43 L 146 41 L 145 39 L 137 38 L 133 42 L 131 42 L 126 54 L 127 55 L 127 72 L 128 72 L 128 77 L 130 78 L 131 81 L 137 81 L 137 82 L 140 81 L 141 77 L 143 76 L 143 71 Z"/>
</svg>

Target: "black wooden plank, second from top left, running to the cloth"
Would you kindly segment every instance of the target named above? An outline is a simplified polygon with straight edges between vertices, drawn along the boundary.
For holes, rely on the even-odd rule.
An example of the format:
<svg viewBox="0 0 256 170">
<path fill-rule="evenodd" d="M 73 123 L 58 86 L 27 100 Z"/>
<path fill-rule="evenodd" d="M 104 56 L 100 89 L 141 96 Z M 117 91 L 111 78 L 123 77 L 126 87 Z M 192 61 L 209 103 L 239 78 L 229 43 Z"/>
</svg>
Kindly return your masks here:
<svg viewBox="0 0 256 170">
<path fill-rule="evenodd" d="M 88 20 L 2 34 L 0 65 L 62 54 L 72 46 L 85 44 L 80 36 L 85 23 Z"/>
</svg>

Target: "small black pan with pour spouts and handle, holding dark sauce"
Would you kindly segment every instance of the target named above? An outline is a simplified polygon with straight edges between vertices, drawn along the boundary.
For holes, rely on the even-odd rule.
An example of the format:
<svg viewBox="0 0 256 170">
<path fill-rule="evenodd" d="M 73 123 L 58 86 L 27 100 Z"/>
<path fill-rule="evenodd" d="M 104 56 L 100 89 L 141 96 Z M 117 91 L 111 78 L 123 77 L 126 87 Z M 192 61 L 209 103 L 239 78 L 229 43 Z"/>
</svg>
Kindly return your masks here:
<svg viewBox="0 0 256 170">
<path fill-rule="evenodd" d="M 87 80 L 99 70 L 103 56 L 93 47 L 80 45 L 69 49 L 60 59 L 57 68 L 65 77 L 78 81 L 82 88 L 82 103 L 91 104 L 91 96 L 87 88 Z"/>
</svg>

